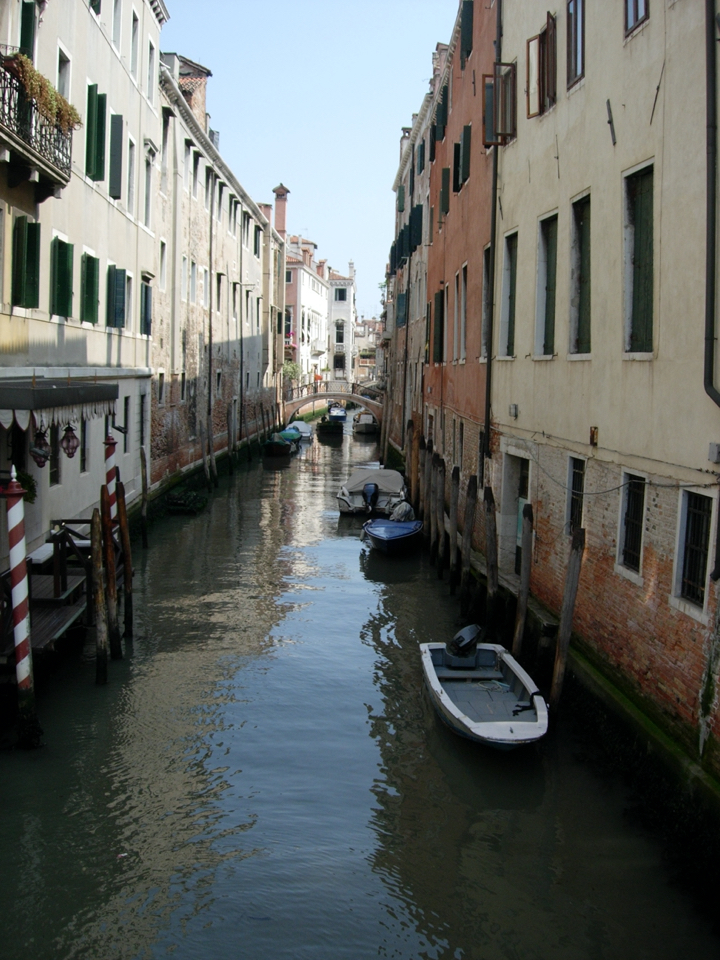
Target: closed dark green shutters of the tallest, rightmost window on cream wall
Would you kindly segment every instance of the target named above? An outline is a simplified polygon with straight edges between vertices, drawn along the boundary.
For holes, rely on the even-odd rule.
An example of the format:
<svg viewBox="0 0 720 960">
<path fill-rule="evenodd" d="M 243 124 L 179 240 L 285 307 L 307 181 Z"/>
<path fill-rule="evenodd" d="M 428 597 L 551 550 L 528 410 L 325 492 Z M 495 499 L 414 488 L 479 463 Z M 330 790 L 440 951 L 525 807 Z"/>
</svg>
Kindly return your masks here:
<svg viewBox="0 0 720 960">
<path fill-rule="evenodd" d="M 632 316 L 630 349 L 649 353 L 653 348 L 653 171 L 628 179 L 633 226 Z"/>
</svg>

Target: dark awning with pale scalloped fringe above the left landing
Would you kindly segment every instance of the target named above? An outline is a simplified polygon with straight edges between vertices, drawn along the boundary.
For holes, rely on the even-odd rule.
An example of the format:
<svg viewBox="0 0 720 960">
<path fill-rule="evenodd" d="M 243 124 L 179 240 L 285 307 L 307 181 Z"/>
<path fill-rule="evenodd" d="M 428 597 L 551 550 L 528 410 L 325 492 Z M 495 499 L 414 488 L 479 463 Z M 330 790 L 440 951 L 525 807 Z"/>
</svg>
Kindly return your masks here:
<svg viewBox="0 0 720 960">
<path fill-rule="evenodd" d="M 21 430 L 27 430 L 31 418 L 36 427 L 46 428 L 112 416 L 117 398 L 116 383 L 0 380 L 0 424 L 8 430 L 15 422 Z"/>
</svg>

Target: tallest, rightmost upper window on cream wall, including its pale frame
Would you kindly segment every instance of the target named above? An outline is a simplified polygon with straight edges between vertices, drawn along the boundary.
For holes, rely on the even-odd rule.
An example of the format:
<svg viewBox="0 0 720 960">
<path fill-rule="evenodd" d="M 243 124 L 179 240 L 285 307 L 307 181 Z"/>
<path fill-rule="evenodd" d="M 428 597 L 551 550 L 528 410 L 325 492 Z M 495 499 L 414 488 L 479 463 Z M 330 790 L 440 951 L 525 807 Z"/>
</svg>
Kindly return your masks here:
<svg viewBox="0 0 720 960">
<path fill-rule="evenodd" d="M 625 349 L 653 348 L 653 168 L 625 180 Z"/>
</svg>

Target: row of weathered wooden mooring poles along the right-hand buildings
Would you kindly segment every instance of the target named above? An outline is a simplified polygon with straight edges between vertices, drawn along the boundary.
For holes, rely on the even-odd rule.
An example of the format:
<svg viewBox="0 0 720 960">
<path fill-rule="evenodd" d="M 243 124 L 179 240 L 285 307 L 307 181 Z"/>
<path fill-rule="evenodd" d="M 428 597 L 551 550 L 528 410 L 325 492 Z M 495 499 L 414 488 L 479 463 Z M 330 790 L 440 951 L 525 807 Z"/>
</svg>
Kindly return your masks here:
<svg viewBox="0 0 720 960">
<path fill-rule="evenodd" d="M 492 487 L 483 490 L 483 509 L 485 512 L 485 562 L 473 561 L 473 529 L 478 500 L 478 478 L 473 475 L 467 483 L 465 493 L 465 514 L 460 523 L 460 468 L 453 467 L 450 476 L 450 509 L 445 512 L 446 465 L 445 460 L 433 451 L 432 440 L 420 437 L 414 444 L 413 423 L 407 428 L 407 463 L 410 467 L 410 484 L 413 506 L 418 516 L 425 521 L 424 534 L 430 547 L 430 560 L 437 564 L 438 577 L 449 568 L 450 593 L 455 594 L 460 586 L 460 605 L 463 614 L 475 605 L 475 585 L 472 568 L 485 573 L 486 602 L 485 618 L 489 632 L 497 634 L 499 619 L 499 570 L 497 546 L 497 520 L 495 496 Z M 522 653 L 525 635 L 528 601 L 530 597 L 530 575 L 533 555 L 533 509 L 526 503 L 522 516 L 520 583 L 517 593 L 515 624 L 512 638 L 512 655 L 516 658 Z M 582 556 L 585 549 L 585 530 L 578 528 L 573 532 L 568 560 L 565 589 L 560 623 L 557 632 L 555 664 L 550 690 L 550 707 L 556 709 L 562 692 L 565 668 L 567 665 L 572 619 L 577 597 Z M 483 570 L 484 567 L 484 570 Z"/>
</svg>

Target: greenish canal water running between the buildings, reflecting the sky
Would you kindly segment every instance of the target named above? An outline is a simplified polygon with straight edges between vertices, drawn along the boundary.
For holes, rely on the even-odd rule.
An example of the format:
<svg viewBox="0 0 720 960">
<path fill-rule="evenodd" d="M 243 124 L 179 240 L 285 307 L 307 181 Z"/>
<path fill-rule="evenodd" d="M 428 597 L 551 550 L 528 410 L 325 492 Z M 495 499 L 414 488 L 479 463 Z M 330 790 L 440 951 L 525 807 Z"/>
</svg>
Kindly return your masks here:
<svg viewBox="0 0 720 960">
<path fill-rule="evenodd" d="M 720 939 L 557 724 L 441 727 L 418 644 L 460 625 L 426 557 L 335 493 L 371 443 L 257 462 L 137 550 L 136 639 L 42 685 L 0 754 L 4 960 L 693 960 Z"/>
</svg>

